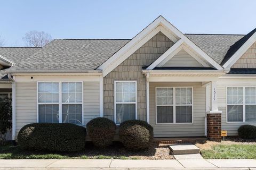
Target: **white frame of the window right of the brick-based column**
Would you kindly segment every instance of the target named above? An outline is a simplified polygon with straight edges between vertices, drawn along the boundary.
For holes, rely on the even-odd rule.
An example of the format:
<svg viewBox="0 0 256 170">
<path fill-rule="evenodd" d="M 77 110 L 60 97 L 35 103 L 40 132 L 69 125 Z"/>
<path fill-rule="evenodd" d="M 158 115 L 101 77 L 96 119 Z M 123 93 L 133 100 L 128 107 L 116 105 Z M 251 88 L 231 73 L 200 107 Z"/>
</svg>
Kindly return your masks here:
<svg viewBox="0 0 256 170">
<path fill-rule="evenodd" d="M 228 88 L 238 88 L 238 87 L 242 87 L 243 88 L 243 104 L 228 104 Z M 256 104 L 245 104 L 245 88 L 246 87 L 254 87 L 256 88 L 256 86 L 227 86 L 226 87 L 226 123 L 255 123 L 253 121 L 250 122 L 246 122 L 245 121 L 245 106 L 246 105 L 256 105 Z M 228 105 L 242 105 L 243 106 L 243 121 L 242 122 L 228 122 Z"/>
</svg>

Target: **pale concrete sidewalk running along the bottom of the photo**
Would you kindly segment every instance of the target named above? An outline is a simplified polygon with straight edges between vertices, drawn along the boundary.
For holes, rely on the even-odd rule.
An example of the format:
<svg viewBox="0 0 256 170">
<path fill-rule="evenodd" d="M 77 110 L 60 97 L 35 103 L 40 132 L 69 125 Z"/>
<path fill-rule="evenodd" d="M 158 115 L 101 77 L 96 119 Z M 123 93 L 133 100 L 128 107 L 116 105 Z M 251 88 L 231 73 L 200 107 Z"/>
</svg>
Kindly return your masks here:
<svg viewBox="0 0 256 170">
<path fill-rule="evenodd" d="M 179 159 L 179 160 L 120 160 L 120 159 L 0 159 L 2 169 L 253 169 L 255 159 Z"/>
</svg>

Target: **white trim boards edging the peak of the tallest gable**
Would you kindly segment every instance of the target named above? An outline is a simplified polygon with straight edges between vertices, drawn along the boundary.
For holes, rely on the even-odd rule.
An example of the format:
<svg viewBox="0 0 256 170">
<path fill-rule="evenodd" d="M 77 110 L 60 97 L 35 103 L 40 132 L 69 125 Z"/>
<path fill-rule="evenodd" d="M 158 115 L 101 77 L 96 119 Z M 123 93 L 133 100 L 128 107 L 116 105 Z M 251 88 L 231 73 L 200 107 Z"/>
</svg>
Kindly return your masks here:
<svg viewBox="0 0 256 170">
<path fill-rule="evenodd" d="M 170 38 L 173 43 L 176 43 L 179 37 L 187 45 L 193 48 L 199 55 L 205 58 L 206 61 L 211 63 L 216 69 L 222 70 L 217 62 L 215 62 L 209 55 L 207 55 L 201 48 L 196 46 L 191 40 L 189 40 L 182 32 L 175 28 L 170 22 L 165 20 L 163 16 L 159 16 L 155 21 L 150 23 L 145 29 L 143 29 L 137 36 L 135 36 L 129 43 L 119 49 L 113 56 L 111 56 L 106 62 L 98 67 L 97 70 L 102 70 L 103 77 L 114 70 L 119 64 L 121 64 L 126 58 L 131 56 L 137 49 L 143 44 L 147 43 L 152 37 L 154 37 L 159 31 L 164 33 L 165 36 Z M 173 36 L 175 35 L 175 37 Z"/>
</svg>

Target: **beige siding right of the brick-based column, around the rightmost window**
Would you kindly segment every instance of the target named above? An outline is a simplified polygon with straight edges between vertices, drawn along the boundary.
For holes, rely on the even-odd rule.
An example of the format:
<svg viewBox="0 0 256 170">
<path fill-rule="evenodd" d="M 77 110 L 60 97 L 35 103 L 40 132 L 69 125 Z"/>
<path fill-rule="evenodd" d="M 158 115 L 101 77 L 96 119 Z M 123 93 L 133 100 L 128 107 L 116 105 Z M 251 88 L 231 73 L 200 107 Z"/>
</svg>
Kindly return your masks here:
<svg viewBox="0 0 256 170">
<path fill-rule="evenodd" d="M 239 84 L 233 84 L 233 87 L 236 86 L 242 86 Z M 231 85 L 227 85 L 227 86 L 218 86 L 217 87 L 217 97 L 218 97 L 218 107 L 219 110 L 222 111 L 222 115 L 221 115 L 221 129 L 222 130 L 226 130 L 228 131 L 228 135 L 230 136 L 234 136 L 234 135 L 238 135 L 238 128 L 244 124 L 251 124 L 251 125 L 256 125 L 255 123 L 247 123 L 247 122 L 239 122 L 239 123 L 227 123 L 227 106 L 226 106 L 226 91 L 227 91 L 227 87 L 232 87 Z"/>
</svg>

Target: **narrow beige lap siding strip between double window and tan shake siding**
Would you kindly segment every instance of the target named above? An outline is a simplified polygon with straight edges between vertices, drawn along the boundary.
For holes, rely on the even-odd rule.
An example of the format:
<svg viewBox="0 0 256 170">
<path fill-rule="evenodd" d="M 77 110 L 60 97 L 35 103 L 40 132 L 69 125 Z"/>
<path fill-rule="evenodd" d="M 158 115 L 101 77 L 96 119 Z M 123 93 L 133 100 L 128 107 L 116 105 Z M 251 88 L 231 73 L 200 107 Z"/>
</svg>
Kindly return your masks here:
<svg viewBox="0 0 256 170">
<path fill-rule="evenodd" d="M 99 82 L 84 82 L 84 125 L 100 116 L 99 89 Z"/>
</svg>

